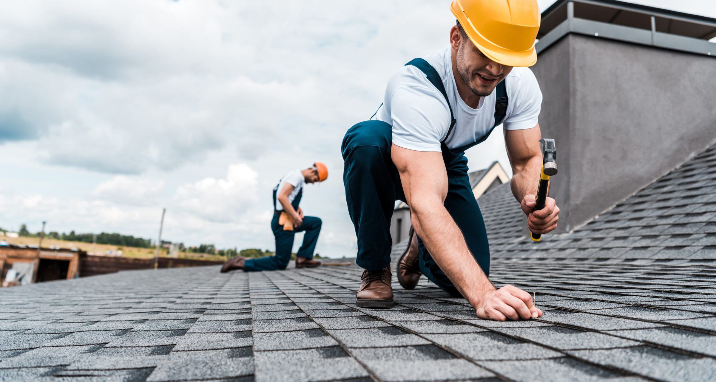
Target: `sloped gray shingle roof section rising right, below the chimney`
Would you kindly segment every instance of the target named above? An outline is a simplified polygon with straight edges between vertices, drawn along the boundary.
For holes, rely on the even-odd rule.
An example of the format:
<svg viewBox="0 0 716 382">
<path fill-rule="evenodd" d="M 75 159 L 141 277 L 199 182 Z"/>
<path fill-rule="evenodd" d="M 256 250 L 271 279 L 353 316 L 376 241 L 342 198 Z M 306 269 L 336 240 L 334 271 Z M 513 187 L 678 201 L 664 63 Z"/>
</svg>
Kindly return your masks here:
<svg viewBox="0 0 716 382">
<path fill-rule="evenodd" d="M 523 235 L 509 185 L 479 200 L 492 258 L 598 258 L 609 261 L 716 261 L 716 147 L 696 156 L 598 218 L 540 243 Z"/>
</svg>

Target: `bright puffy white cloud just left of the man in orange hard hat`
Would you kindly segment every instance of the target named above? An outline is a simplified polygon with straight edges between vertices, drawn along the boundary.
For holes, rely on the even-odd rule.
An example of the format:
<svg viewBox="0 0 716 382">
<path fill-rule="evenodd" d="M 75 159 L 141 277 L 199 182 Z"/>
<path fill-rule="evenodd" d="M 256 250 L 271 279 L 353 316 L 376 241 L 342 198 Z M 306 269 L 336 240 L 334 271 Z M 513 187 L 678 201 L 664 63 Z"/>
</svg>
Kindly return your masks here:
<svg viewBox="0 0 716 382">
<path fill-rule="evenodd" d="M 184 211 L 208 221 L 237 221 L 256 203 L 258 173 L 246 164 L 228 166 L 226 179 L 204 178 L 176 190 L 174 201 Z"/>
</svg>

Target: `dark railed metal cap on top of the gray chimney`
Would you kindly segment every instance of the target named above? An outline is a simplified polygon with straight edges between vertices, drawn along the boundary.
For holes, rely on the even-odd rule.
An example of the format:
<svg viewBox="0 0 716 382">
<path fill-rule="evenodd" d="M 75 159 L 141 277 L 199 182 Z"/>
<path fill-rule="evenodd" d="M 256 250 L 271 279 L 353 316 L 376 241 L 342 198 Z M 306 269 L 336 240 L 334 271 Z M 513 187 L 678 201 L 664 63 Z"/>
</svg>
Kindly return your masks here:
<svg viewBox="0 0 716 382">
<path fill-rule="evenodd" d="M 542 12 L 537 53 L 569 33 L 716 56 L 716 19 L 624 1 L 556 1 Z"/>
</svg>

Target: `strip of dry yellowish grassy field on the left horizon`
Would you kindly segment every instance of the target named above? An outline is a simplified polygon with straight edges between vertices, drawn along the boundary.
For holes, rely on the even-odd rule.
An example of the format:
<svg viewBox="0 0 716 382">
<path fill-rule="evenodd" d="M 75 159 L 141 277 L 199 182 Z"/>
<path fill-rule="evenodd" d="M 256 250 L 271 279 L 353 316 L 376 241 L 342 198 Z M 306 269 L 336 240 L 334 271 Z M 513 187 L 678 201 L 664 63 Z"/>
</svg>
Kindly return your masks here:
<svg viewBox="0 0 716 382">
<path fill-rule="evenodd" d="M 11 244 L 29 244 L 37 246 L 37 242 L 39 241 L 39 238 L 29 238 L 29 237 L 19 237 L 19 238 L 10 238 L 7 236 L 0 236 L 0 240 L 7 241 Z M 155 248 L 137 248 L 137 247 L 125 247 L 125 246 L 112 246 L 110 244 L 92 244 L 92 243 L 82 243 L 81 241 L 64 241 L 64 240 L 56 240 L 53 238 L 43 238 L 42 239 L 42 247 L 48 248 L 49 246 L 59 246 L 59 248 L 79 248 L 82 251 L 87 251 L 97 253 L 97 254 L 104 254 L 107 251 L 112 251 L 114 253 L 117 253 L 117 251 L 122 251 L 122 256 L 124 257 L 132 257 L 132 258 L 153 258 L 155 253 Z M 161 257 L 168 257 L 168 249 L 167 248 L 160 248 L 159 250 L 159 256 Z M 218 256 L 218 255 L 210 255 L 208 253 L 190 253 L 190 252 L 179 252 L 180 258 L 195 258 L 195 259 L 203 259 L 203 260 L 215 260 L 215 261 L 226 261 L 226 257 Z"/>
</svg>

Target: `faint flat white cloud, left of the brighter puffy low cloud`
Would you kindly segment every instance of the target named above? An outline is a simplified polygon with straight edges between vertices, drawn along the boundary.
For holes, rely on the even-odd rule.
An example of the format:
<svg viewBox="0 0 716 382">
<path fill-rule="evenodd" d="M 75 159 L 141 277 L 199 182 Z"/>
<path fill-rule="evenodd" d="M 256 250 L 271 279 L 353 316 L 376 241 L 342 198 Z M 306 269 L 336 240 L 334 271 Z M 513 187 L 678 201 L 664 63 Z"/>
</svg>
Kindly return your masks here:
<svg viewBox="0 0 716 382">
<path fill-rule="evenodd" d="M 164 181 L 116 175 L 99 184 L 91 196 L 130 206 L 153 206 L 164 191 Z"/>
</svg>

